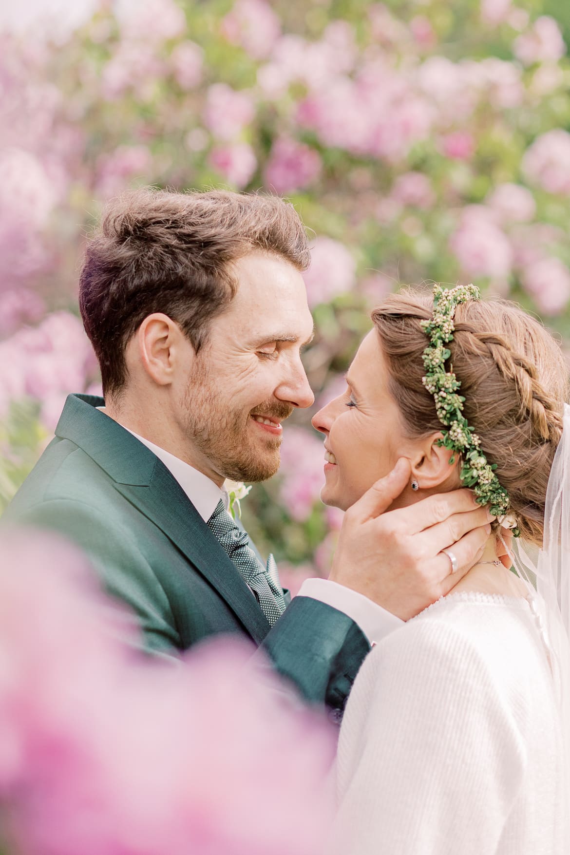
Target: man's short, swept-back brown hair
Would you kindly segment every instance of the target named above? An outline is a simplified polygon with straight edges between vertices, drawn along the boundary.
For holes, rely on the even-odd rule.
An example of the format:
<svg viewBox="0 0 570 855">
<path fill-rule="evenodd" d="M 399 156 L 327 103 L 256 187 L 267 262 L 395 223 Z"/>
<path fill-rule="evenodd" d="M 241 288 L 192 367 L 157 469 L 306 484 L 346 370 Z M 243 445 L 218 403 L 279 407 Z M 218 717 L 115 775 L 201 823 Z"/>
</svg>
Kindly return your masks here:
<svg viewBox="0 0 570 855">
<path fill-rule="evenodd" d="M 199 351 L 209 321 L 236 294 L 231 262 L 256 250 L 309 267 L 309 244 L 291 204 L 262 194 L 149 188 L 109 202 L 79 279 L 79 308 L 104 394 L 120 392 L 126 344 L 153 312 L 179 323 Z"/>
</svg>

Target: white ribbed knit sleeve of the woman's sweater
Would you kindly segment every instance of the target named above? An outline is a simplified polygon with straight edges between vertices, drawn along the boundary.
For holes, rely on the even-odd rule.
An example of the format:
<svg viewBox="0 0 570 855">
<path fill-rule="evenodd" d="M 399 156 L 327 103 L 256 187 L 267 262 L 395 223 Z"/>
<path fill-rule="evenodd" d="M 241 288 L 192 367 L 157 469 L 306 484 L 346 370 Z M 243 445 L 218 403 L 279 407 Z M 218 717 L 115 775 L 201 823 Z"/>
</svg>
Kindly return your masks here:
<svg viewBox="0 0 570 855">
<path fill-rule="evenodd" d="M 373 649 L 341 730 L 332 852 L 496 852 L 526 757 L 494 680 L 446 622 L 411 622 Z"/>
</svg>

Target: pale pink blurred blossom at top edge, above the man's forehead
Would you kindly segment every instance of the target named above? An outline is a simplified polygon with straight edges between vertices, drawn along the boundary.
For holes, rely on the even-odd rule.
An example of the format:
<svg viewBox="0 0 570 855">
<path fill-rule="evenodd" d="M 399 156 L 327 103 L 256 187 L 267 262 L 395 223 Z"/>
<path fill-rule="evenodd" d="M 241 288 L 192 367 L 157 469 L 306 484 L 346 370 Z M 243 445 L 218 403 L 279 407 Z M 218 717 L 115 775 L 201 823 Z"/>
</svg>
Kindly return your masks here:
<svg viewBox="0 0 570 855">
<path fill-rule="evenodd" d="M 266 0 L 237 0 L 222 21 L 221 32 L 253 59 L 265 59 L 279 38 L 281 24 Z"/>
</svg>

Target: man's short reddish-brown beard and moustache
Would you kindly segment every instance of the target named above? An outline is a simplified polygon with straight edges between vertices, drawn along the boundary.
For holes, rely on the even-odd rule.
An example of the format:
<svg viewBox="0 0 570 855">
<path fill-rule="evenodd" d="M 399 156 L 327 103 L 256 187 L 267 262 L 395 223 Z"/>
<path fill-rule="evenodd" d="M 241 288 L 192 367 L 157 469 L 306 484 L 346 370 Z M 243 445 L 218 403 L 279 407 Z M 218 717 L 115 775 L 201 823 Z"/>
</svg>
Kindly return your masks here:
<svg viewBox="0 0 570 855">
<path fill-rule="evenodd" d="M 203 370 L 192 376 L 182 400 L 185 434 L 206 457 L 215 472 L 232 481 L 267 481 L 279 469 L 281 437 L 254 441 L 251 414 L 271 416 L 279 422 L 291 416 L 291 404 L 264 401 L 253 410 L 232 408 L 220 400 L 215 380 Z"/>
</svg>

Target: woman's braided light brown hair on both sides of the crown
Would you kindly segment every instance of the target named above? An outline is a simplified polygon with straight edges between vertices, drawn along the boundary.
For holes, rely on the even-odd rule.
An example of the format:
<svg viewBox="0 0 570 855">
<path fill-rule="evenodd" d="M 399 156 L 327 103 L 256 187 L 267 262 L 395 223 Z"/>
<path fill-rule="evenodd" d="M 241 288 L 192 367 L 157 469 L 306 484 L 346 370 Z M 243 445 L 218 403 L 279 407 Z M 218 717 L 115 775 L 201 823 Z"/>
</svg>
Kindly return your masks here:
<svg viewBox="0 0 570 855">
<path fill-rule="evenodd" d="M 421 382 L 427 339 L 420 321 L 432 311 L 432 295 L 410 289 L 392 294 L 372 314 L 389 388 L 412 436 L 443 429 L 433 396 Z M 466 398 L 467 422 L 489 462 L 497 463 L 521 535 L 541 545 L 546 487 L 568 394 L 561 348 L 539 321 L 502 299 L 458 306 L 455 339 L 448 346 Z"/>
</svg>

